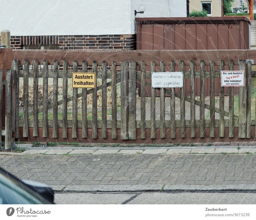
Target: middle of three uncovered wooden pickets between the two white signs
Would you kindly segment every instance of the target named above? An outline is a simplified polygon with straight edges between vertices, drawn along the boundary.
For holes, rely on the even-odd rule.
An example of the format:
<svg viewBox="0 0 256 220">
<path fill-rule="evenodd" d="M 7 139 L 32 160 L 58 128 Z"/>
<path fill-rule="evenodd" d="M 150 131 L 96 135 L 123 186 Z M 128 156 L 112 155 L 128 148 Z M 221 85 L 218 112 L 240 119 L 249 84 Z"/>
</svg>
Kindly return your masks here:
<svg viewBox="0 0 256 220">
<path fill-rule="evenodd" d="M 200 129 L 199 129 L 199 135 L 201 138 L 204 137 L 204 124 L 205 124 L 205 110 L 204 110 L 204 104 L 205 104 L 205 80 L 204 80 L 204 71 L 205 71 L 205 64 L 204 60 L 201 60 L 200 62 Z"/>
</svg>

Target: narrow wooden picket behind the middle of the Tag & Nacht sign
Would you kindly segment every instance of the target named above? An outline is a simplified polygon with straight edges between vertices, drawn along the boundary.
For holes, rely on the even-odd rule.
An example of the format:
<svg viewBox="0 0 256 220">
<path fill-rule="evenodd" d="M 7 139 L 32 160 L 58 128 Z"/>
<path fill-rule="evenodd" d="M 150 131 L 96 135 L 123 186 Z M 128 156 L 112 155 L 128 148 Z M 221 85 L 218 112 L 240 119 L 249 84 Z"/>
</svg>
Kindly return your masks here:
<svg viewBox="0 0 256 220">
<path fill-rule="evenodd" d="M 229 70 L 234 70 L 233 60 L 229 61 Z M 228 137 L 234 137 L 234 87 L 228 87 Z"/>
</svg>

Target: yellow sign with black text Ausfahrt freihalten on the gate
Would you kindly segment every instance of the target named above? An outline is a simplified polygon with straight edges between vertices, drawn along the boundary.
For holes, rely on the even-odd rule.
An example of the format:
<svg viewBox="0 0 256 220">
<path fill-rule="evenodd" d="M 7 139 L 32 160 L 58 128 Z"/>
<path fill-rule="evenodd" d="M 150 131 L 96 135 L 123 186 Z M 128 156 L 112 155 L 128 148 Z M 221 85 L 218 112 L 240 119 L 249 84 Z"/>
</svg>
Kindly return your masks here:
<svg viewBox="0 0 256 220">
<path fill-rule="evenodd" d="M 72 88 L 95 88 L 95 72 L 72 72 Z"/>
</svg>

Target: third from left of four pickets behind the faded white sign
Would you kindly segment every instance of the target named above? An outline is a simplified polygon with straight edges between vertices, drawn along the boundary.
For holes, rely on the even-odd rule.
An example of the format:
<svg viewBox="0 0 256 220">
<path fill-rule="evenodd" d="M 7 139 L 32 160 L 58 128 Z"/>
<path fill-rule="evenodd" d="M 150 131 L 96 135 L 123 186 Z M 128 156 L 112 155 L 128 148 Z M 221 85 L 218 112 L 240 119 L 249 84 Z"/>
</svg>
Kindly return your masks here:
<svg viewBox="0 0 256 220">
<path fill-rule="evenodd" d="M 170 62 L 170 71 L 175 72 L 175 62 Z M 171 121 L 171 138 L 175 138 L 176 124 L 175 124 L 175 88 L 170 88 L 170 121 Z"/>
</svg>

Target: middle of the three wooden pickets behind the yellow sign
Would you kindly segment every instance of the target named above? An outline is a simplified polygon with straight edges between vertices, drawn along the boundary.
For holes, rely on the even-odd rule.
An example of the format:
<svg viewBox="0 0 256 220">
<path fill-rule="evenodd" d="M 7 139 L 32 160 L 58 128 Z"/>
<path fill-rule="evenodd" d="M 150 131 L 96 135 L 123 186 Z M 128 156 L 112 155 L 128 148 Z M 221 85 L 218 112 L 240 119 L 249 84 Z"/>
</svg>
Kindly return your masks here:
<svg viewBox="0 0 256 220">
<path fill-rule="evenodd" d="M 87 61 L 82 62 L 82 72 L 87 72 Z M 82 88 L 82 138 L 87 138 L 87 88 Z"/>
</svg>

